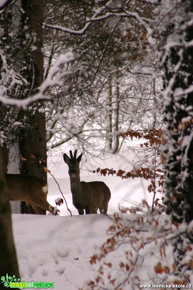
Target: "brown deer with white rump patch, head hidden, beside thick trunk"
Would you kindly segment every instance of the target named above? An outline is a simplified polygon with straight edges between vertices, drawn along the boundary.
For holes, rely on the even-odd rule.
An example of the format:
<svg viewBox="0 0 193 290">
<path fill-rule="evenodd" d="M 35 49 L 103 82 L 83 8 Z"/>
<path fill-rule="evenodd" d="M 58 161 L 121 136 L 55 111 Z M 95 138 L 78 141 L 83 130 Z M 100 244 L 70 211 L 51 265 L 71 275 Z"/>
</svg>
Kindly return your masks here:
<svg viewBox="0 0 193 290">
<path fill-rule="evenodd" d="M 5 174 L 5 180 L 9 201 L 25 201 L 27 205 L 30 203 L 37 214 L 44 214 L 42 209 L 58 214 L 58 210 L 54 213 L 54 207 L 46 200 L 48 190 L 46 181 L 22 174 Z"/>
</svg>

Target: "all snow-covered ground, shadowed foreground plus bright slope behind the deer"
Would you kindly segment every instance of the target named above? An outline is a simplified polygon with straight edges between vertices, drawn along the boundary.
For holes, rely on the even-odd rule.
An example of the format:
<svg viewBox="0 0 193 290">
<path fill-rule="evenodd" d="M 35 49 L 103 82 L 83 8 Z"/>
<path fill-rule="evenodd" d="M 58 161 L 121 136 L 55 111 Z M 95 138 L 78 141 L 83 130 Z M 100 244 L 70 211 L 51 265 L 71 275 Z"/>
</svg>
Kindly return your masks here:
<svg viewBox="0 0 193 290">
<path fill-rule="evenodd" d="M 99 275 L 97 270 L 102 263 L 101 261 L 91 265 L 90 258 L 99 252 L 99 247 L 109 238 L 106 231 L 112 225 L 110 219 L 112 214 L 117 212 L 118 207 L 124 203 L 130 207 L 134 201 L 138 203 L 141 199 L 146 199 L 151 204 L 153 196 L 148 193 L 148 182 L 144 180 L 121 180 L 120 177 L 116 176 L 101 177 L 97 174 L 81 171 L 81 180 L 87 182 L 104 181 L 111 190 L 111 200 L 108 207 L 110 218 L 101 214 L 79 216 L 72 204 L 67 165 L 62 164 L 57 170 L 50 166 L 49 169 L 54 174 L 73 216 L 70 216 L 65 203 L 59 207 L 60 216 L 12 214 L 19 278 L 25 282 L 54 282 L 54 289 L 57 290 L 89 290 L 88 286 L 84 285 Z M 47 199 L 50 204 L 55 206 L 54 200 L 61 197 L 61 193 L 50 175 L 48 175 L 48 183 Z M 127 217 L 132 225 L 133 215 L 125 215 L 124 218 Z M 165 216 L 162 215 L 161 219 L 165 219 Z M 153 234 L 151 229 L 150 233 L 147 232 L 147 234 Z M 142 263 L 140 262 L 138 267 L 135 267 L 136 273 L 134 274 L 139 276 L 141 284 L 152 284 L 153 279 L 155 281 L 153 267 L 159 257 L 160 249 L 155 243 L 153 243 L 153 247 L 152 244 L 150 247 L 141 256 Z M 115 264 L 117 263 L 117 269 L 116 267 L 114 270 L 106 269 L 106 276 L 109 276 L 112 271 L 116 277 L 119 276 L 121 273 L 119 261 L 129 250 L 133 251 L 132 246 L 126 243 L 105 257 L 104 261 L 107 264 L 113 261 Z M 168 246 L 164 263 L 171 261 L 171 246 Z M 124 275 L 121 279 L 123 278 Z M 114 289 L 114 285 L 109 284 L 107 278 L 104 279 L 105 287 L 107 287 L 104 289 Z M 160 280 L 158 279 L 158 281 Z M 133 282 L 134 280 L 130 280 L 130 284 L 126 284 L 123 289 L 132 289 Z"/>
</svg>

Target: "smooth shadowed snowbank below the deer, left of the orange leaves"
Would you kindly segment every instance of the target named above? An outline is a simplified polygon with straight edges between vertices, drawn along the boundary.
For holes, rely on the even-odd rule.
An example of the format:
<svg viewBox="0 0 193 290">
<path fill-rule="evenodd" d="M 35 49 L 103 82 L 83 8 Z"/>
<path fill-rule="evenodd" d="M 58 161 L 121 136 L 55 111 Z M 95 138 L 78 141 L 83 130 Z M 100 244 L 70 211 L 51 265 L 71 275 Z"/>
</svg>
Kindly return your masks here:
<svg viewBox="0 0 193 290">
<path fill-rule="evenodd" d="M 77 290 L 92 273 L 89 258 L 95 246 L 105 241 L 110 223 L 103 215 L 14 215 L 21 280 L 54 282 L 58 290 Z"/>
</svg>

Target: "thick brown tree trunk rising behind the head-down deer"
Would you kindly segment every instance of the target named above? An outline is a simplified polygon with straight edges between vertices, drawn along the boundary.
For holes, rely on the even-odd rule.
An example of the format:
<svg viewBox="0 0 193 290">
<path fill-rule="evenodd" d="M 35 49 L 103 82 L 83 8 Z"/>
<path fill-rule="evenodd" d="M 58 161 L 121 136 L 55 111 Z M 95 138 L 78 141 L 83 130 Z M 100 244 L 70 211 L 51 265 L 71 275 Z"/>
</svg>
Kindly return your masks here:
<svg viewBox="0 0 193 290">
<path fill-rule="evenodd" d="M 28 80 L 31 83 L 31 94 L 33 94 L 43 82 L 43 28 L 41 24 L 43 21 L 43 0 L 35 2 L 26 0 L 22 4 L 25 11 L 24 21 L 28 25 L 28 31 L 30 35 L 35 35 L 36 38 L 32 52 L 32 63 L 30 64 L 32 71 L 31 74 L 29 73 Z M 29 127 L 23 129 L 19 148 L 22 157 L 29 162 L 21 163 L 21 173 L 34 175 L 46 181 L 47 174 L 44 171 L 47 160 L 44 105 L 34 104 L 27 110 L 26 115 Z M 24 208 L 25 203 L 22 203 L 22 212 L 25 212 L 26 209 Z M 31 212 L 31 210 L 33 212 L 30 207 L 29 211 Z"/>
</svg>

